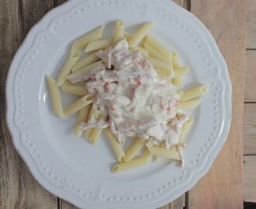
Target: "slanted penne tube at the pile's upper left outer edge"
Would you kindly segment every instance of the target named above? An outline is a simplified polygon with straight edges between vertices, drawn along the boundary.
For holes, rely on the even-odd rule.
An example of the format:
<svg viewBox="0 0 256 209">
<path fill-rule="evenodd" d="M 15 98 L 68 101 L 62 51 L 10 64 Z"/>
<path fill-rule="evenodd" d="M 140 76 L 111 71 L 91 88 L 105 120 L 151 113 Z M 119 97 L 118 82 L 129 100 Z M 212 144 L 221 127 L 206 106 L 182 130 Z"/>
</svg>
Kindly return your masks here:
<svg viewBox="0 0 256 209">
<path fill-rule="evenodd" d="M 88 43 L 90 43 L 92 40 L 101 39 L 103 29 L 104 29 L 104 26 L 99 26 L 98 28 L 92 30 L 92 32 L 81 37 L 80 39 L 76 39 L 72 45 L 71 53 L 78 52 L 80 50 L 85 49 Z"/>
</svg>

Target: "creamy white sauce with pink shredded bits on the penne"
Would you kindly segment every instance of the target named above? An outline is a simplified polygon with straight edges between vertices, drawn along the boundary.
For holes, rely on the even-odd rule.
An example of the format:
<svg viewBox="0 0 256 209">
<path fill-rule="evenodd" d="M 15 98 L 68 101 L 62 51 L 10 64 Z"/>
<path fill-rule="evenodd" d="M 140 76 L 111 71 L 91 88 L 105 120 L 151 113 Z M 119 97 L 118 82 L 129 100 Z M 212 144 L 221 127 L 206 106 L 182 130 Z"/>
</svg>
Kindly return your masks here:
<svg viewBox="0 0 256 209">
<path fill-rule="evenodd" d="M 108 125 L 119 142 L 130 136 L 155 144 L 164 142 L 166 148 L 177 144 L 188 116 L 177 112 L 179 94 L 172 84 L 157 76 L 140 51 L 129 50 L 126 39 L 96 54 L 106 68 L 93 69 L 92 74 L 74 81 L 88 81 L 86 87 L 94 104 L 102 115 L 108 115 L 107 124 L 97 125 Z M 93 122 L 82 128 L 95 125 Z"/>
</svg>

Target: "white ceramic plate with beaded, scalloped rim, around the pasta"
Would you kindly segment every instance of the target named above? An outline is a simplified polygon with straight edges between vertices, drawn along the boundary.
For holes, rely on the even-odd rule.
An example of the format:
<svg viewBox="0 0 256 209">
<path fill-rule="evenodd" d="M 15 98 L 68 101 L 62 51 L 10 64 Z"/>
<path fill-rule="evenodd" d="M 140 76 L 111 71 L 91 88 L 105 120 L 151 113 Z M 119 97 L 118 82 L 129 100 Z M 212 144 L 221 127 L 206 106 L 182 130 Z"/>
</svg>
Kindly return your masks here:
<svg viewBox="0 0 256 209">
<path fill-rule="evenodd" d="M 153 35 L 192 67 L 185 87 L 202 83 L 209 93 L 191 115 L 185 167 L 159 160 L 136 170 L 111 173 L 115 158 L 106 139 L 96 146 L 75 139 L 75 118 L 61 120 L 50 108 L 45 74 L 56 77 L 74 39 L 123 19 L 128 30 L 152 20 Z M 156 208 L 189 190 L 210 168 L 230 125 L 231 87 L 216 43 L 194 15 L 169 0 L 73 0 L 49 12 L 16 53 L 6 86 L 7 121 L 16 149 L 36 180 L 82 208 Z M 74 100 L 64 96 L 64 105 Z"/>
</svg>

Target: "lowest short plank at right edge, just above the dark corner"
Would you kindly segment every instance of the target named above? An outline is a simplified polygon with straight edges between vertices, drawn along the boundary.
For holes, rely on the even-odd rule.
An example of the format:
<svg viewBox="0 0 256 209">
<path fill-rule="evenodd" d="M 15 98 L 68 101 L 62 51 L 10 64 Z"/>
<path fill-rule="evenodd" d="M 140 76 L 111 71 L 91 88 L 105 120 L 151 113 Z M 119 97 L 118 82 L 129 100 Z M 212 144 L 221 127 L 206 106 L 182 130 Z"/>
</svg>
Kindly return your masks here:
<svg viewBox="0 0 256 209">
<path fill-rule="evenodd" d="M 244 201 L 256 203 L 256 156 L 244 156 Z"/>
</svg>

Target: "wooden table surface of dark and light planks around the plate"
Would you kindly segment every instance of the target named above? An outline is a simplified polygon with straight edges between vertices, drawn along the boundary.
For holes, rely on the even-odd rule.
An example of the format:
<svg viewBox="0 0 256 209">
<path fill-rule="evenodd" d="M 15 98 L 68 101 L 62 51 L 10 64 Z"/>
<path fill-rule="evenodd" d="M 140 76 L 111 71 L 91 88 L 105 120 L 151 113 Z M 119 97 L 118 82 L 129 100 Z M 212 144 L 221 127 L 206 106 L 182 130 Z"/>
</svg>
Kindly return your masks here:
<svg viewBox="0 0 256 209">
<path fill-rule="evenodd" d="M 1 209 L 76 208 L 49 194 L 33 179 L 12 146 L 5 123 L 5 80 L 12 57 L 29 29 L 50 9 L 64 2 L 66 0 L 0 0 Z M 208 27 L 223 53 L 233 84 L 233 118 L 227 142 L 209 173 L 192 190 L 161 208 L 240 209 L 244 200 L 256 202 L 256 1 L 175 2 Z"/>
</svg>

